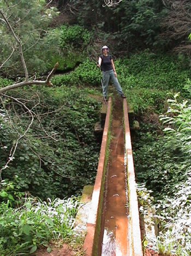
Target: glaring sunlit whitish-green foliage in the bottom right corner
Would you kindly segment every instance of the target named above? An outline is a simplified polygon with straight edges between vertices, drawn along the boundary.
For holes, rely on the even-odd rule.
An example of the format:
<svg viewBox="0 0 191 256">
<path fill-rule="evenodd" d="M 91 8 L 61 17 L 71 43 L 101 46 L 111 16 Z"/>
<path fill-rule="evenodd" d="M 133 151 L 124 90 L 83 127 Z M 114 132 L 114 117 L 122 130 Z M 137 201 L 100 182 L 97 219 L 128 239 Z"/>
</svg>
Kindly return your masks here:
<svg viewBox="0 0 191 256">
<path fill-rule="evenodd" d="M 175 185 L 174 197 L 165 197 L 158 202 L 161 219 L 157 237 L 159 252 L 169 255 L 189 255 L 191 251 L 190 207 L 191 169 L 186 181 Z"/>
</svg>

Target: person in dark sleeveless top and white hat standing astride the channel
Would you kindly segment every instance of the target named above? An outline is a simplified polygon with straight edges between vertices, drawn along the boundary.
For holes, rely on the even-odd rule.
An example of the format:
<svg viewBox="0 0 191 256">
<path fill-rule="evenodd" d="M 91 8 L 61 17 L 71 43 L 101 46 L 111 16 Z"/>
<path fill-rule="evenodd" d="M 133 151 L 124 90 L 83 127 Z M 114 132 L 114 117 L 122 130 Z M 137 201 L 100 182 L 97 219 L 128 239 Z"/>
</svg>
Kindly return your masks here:
<svg viewBox="0 0 191 256">
<path fill-rule="evenodd" d="M 102 74 L 103 74 L 104 101 L 106 101 L 108 96 L 108 86 L 109 86 L 110 79 L 114 83 L 114 86 L 118 94 L 120 94 L 122 98 L 126 98 L 126 96 L 123 94 L 121 85 L 117 79 L 114 60 L 112 59 L 112 56 L 108 53 L 109 53 L 109 48 L 108 46 L 104 45 L 102 47 L 102 55 L 100 55 L 98 59 L 98 67 L 100 68 L 100 70 L 102 70 Z"/>
</svg>

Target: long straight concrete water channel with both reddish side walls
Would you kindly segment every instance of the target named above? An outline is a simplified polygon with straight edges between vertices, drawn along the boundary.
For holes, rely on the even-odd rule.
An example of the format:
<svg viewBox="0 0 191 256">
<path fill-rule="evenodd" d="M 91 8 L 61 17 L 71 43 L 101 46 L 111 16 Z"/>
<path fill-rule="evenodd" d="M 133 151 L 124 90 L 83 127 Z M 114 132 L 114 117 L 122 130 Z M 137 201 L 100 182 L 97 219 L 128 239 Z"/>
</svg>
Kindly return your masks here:
<svg viewBox="0 0 191 256">
<path fill-rule="evenodd" d="M 84 249 L 87 256 L 142 256 L 126 99 L 108 101 Z"/>
</svg>

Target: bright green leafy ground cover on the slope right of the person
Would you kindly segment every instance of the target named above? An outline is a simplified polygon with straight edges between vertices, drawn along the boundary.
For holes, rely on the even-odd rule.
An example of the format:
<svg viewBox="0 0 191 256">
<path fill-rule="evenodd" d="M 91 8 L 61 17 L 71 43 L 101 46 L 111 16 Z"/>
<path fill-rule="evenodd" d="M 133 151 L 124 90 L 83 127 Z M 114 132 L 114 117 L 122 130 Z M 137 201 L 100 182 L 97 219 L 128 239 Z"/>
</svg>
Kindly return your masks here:
<svg viewBox="0 0 191 256">
<path fill-rule="evenodd" d="M 174 55 L 148 51 L 116 61 L 116 69 L 123 88 L 182 90 L 191 75 L 186 59 L 183 64 L 183 60 Z"/>
</svg>

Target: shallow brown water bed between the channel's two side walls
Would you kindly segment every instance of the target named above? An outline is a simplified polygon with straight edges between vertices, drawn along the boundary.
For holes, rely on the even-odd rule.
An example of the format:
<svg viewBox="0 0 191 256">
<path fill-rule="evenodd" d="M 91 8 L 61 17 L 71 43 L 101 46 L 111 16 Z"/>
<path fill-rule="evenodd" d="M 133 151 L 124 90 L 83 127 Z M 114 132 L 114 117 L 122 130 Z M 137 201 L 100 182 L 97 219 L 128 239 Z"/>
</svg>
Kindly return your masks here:
<svg viewBox="0 0 191 256">
<path fill-rule="evenodd" d="M 115 97 L 111 127 L 101 255 L 124 256 L 129 255 L 127 177 L 124 168 L 123 105 L 118 97 Z"/>
</svg>

